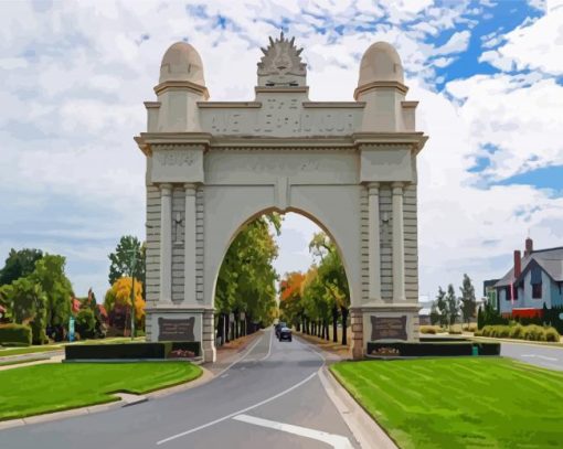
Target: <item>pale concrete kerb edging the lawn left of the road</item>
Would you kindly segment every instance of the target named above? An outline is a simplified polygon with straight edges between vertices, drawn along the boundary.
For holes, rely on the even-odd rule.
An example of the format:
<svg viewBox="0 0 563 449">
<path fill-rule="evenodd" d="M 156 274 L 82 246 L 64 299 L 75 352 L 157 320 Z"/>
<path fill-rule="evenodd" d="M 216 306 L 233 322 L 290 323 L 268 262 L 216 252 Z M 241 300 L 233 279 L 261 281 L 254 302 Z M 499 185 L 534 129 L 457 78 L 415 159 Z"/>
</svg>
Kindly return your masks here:
<svg viewBox="0 0 563 449">
<path fill-rule="evenodd" d="M 200 366 L 201 367 L 201 366 Z M 130 393 L 115 393 L 114 396 L 117 396 L 119 399 L 107 403 L 107 404 L 99 404 L 99 405 L 93 405 L 87 407 L 81 407 L 81 408 L 73 408 L 71 410 L 63 410 L 63 411 L 55 411 L 55 413 L 47 413 L 42 415 L 35 415 L 30 416 L 26 418 L 19 418 L 19 419 L 10 419 L 6 421 L 0 421 L 0 430 L 9 429 L 12 427 L 20 427 L 25 426 L 30 424 L 39 424 L 39 423 L 49 423 L 59 419 L 65 419 L 71 418 L 73 416 L 81 416 L 81 415 L 89 415 L 95 414 L 99 411 L 107 411 L 113 410 L 116 408 L 121 407 L 129 407 L 131 405 L 146 403 L 147 400 L 155 399 L 158 397 L 168 396 L 174 393 L 184 392 L 190 388 L 195 388 L 200 385 L 203 385 L 208 382 L 210 382 L 214 375 L 209 370 L 205 370 L 204 367 L 201 367 L 202 374 L 198 378 L 180 384 L 174 385 L 168 388 L 158 389 L 151 393 L 147 393 L 145 395 L 135 395 Z"/>
</svg>

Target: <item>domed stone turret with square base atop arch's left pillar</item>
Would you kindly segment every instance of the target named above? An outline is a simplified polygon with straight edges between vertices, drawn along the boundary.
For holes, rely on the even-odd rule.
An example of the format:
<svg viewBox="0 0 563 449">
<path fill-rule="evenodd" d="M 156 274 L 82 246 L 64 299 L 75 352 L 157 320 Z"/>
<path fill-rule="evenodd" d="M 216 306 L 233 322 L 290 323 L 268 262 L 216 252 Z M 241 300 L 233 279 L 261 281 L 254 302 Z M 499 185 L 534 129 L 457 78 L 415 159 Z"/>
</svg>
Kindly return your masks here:
<svg viewBox="0 0 563 449">
<path fill-rule="evenodd" d="M 147 101 L 149 132 L 201 131 L 198 101 L 209 98 L 203 63 L 187 42 L 172 44 L 160 64 L 158 101 Z"/>
</svg>

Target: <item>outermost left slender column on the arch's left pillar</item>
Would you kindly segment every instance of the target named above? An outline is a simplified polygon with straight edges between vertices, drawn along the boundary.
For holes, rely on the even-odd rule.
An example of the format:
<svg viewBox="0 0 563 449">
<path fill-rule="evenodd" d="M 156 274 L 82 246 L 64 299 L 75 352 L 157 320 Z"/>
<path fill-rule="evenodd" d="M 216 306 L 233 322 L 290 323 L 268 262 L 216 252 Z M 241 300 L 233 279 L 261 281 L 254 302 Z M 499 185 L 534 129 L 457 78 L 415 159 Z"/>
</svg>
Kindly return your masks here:
<svg viewBox="0 0 563 449">
<path fill-rule="evenodd" d="M 160 303 L 172 302 L 172 184 L 160 184 Z"/>
</svg>

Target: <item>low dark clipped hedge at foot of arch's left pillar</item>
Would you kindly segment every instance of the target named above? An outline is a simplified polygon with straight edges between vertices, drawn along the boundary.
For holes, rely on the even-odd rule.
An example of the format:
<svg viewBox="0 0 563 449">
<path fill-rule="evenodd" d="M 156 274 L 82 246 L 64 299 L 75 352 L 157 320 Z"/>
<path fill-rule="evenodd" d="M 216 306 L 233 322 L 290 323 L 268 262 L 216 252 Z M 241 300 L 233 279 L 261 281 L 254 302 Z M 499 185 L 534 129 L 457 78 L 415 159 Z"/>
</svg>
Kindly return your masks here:
<svg viewBox="0 0 563 449">
<path fill-rule="evenodd" d="M 167 359 L 171 351 L 188 350 L 200 355 L 200 342 L 153 342 L 79 344 L 65 346 L 66 360 Z"/>
</svg>

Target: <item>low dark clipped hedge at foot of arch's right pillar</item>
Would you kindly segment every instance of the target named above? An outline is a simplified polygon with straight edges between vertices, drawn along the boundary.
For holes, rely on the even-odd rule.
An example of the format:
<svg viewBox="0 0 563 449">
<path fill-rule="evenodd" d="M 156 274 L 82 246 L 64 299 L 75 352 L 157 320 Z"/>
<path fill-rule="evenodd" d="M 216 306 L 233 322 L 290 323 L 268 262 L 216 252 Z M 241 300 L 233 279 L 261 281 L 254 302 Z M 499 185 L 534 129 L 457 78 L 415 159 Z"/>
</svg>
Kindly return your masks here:
<svg viewBox="0 0 563 449">
<path fill-rule="evenodd" d="M 468 341 L 439 341 L 439 342 L 369 342 L 368 354 L 380 349 L 393 349 L 399 356 L 453 356 L 472 355 L 474 346 L 479 355 L 499 355 L 500 343 L 472 343 Z"/>
</svg>

